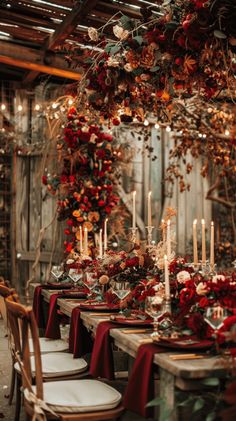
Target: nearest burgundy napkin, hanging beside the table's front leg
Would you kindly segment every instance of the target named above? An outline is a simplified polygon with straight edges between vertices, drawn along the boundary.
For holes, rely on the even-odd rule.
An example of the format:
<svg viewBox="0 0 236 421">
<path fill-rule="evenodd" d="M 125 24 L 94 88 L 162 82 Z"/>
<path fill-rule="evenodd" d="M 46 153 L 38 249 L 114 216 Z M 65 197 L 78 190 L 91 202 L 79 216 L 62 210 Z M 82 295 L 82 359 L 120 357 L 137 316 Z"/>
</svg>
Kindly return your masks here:
<svg viewBox="0 0 236 421">
<path fill-rule="evenodd" d="M 123 399 L 126 409 L 143 417 L 154 416 L 153 407 L 146 408 L 146 404 L 154 399 L 153 358 L 159 352 L 166 349 L 152 343 L 139 347 Z"/>
</svg>

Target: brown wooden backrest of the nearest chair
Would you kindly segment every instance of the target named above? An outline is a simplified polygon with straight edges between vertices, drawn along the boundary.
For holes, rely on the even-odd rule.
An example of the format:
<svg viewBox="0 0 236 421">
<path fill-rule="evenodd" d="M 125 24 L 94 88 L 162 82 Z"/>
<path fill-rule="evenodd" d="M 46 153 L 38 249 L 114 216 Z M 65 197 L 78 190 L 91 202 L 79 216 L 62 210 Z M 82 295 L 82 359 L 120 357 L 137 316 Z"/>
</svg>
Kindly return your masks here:
<svg viewBox="0 0 236 421">
<path fill-rule="evenodd" d="M 35 362 L 34 378 L 36 384 L 36 395 L 39 399 L 43 399 L 42 363 L 38 327 L 32 307 L 27 307 L 15 302 L 14 297 L 11 295 L 6 298 L 5 303 L 11 333 L 14 338 L 15 357 L 21 366 L 23 388 L 27 388 L 32 391 L 31 385 L 33 375 L 30 363 L 29 347 L 29 337 L 31 336 L 34 351 L 32 358 L 34 358 Z"/>
</svg>

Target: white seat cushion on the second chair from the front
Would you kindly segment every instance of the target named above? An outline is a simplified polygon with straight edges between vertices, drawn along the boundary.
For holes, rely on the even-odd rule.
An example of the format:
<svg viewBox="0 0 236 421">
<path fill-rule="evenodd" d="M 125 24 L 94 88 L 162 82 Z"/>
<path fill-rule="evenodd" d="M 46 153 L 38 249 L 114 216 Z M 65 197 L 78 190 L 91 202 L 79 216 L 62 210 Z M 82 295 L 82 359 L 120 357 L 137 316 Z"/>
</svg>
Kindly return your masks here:
<svg viewBox="0 0 236 421">
<path fill-rule="evenodd" d="M 86 370 L 87 363 L 83 358 L 73 358 L 68 352 L 50 352 L 41 355 L 43 377 L 61 377 L 79 374 Z M 35 372 L 34 356 L 30 357 L 32 372 Z M 19 372 L 18 363 L 14 365 Z"/>
</svg>

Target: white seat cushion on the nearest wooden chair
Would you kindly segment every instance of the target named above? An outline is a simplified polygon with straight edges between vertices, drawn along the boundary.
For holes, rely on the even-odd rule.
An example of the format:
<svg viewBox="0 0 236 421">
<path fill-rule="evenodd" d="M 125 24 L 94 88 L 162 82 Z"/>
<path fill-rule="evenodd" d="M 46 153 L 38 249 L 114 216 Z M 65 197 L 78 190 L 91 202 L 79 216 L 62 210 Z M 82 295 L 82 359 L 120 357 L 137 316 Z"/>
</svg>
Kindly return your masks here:
<svg viewBox="0 0 236 421">
<path fill-rule="evenodd" d="M 35 386 L 33 391 L 36 393 Z M 43 384 L 44 401 L 55 412 L 95 412 L 116 408 L 121 394 L 98 380 L 64 380 Z"/>
</svg>

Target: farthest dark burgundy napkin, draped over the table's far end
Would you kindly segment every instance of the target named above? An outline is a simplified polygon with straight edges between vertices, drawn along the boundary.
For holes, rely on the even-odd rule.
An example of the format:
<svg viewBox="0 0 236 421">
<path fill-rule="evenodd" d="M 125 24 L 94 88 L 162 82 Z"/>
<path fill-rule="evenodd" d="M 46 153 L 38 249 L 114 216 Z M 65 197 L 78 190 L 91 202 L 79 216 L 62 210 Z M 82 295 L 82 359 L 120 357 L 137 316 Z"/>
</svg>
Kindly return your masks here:
<svg viewBox="0 0 236 421">
<path fill-rule="evenodd" d="M 44 318 L 44 312 L 43 312 L 43 296 L 42 296 L 42 290 L 43 289 L 61 289 L 62 285 L 38 285 L 34 290 L 34 298 L 33 298 L 33 311 L 34 315 L 38 324 L 39 328 L 45 329 L 46 327 L 46 320 Z M 71 285 L 69 284 L 63 284 L 64 289 L 71 288 Z"/>
</svg>

